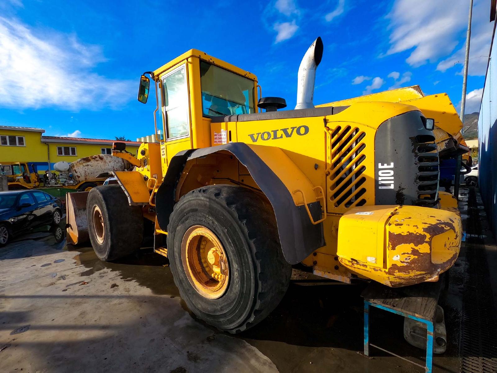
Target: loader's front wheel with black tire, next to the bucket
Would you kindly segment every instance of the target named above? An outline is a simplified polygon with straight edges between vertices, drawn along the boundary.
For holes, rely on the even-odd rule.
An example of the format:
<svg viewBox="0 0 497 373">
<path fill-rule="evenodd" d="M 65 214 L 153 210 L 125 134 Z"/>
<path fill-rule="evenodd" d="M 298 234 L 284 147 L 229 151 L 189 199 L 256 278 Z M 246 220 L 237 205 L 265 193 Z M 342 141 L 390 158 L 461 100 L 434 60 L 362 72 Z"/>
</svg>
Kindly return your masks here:
<svg viewBox="0 0 497 373">
<path fill-rule="evenodd" d="M 86 202 L 88 234 L 98 259 L 113 261 L 140 248 L 143 214 L 140 206 L 130 206 L 119 185 L 95 187 Z"/>
</svg>

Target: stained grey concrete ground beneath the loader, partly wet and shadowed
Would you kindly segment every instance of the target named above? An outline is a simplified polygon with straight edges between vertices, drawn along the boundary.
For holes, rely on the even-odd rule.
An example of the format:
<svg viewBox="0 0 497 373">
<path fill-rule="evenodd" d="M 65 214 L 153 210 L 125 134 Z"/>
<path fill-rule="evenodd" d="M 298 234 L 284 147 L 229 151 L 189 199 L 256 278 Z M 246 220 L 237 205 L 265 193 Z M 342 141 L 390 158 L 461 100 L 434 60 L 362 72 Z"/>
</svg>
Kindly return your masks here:
<svg viewBox="0 0 497 373">
<path fill-rule="evenodd" d="M 364 284 L 299 279 L 265 320 L 227 335 L 189 313 L 150 249 L 104 263 L 91 247 L 35 233 L 0 249 L 0 372 L 423 372 L 359 354 Z M 459 371 L 458 291 L 442 295 L 448 349 L 434 372 Z M 371 320 L 373 343 L 424 364 L 402 317 L 373 309 Z"/>
</svg>

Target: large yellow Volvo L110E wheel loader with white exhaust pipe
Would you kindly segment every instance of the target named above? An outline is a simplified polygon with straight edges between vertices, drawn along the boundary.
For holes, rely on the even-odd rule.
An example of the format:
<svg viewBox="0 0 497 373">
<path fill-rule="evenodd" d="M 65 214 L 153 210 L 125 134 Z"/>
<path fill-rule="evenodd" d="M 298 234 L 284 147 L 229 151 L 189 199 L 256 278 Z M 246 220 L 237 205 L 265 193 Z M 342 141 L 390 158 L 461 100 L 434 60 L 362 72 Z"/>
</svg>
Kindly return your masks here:
<svg viewBox="0 0 497 373">
<path fill-rule="evenodd" d="M 318 38 L 293 110 L 261 97 L 255 75 L 195 49 L 144 73 L 138 99 L 150 76 L 159 143 L 136 158 L 114 143 L 136 168 L 87 194 L 98 258 L 137 250 L 151 220 L 188 307 L 231 333 L 274 309 L 297 263 L 343 282 L 438 280 L 459 253 L 461 220 L 438 195 L 433 118 L 400 102 L 314 107 L 322 53 Z"/>
</svg>

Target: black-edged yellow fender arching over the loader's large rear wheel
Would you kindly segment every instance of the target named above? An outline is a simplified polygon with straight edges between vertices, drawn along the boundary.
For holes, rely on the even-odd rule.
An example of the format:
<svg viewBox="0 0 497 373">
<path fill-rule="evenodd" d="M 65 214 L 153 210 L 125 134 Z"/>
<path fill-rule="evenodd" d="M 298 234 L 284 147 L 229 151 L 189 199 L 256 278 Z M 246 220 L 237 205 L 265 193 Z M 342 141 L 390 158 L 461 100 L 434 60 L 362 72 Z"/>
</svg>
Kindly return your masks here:
<svg viewBox="0 0 497 373">
<path fill-rule="evenodd" d="M 171 159 L 156 194 L 157 220 L 162 230 L 167 230 L 169 215 L 177 200 L 176 188 L 187 162 L 219 152 L 233 154 L 269 199 L 276 216 L 283 255 L 288 263 L 299 263 L 325 245 L 323 224 L 313 224 L 303 205 L 304 194 L 313 220 L 317 222 L 321 219 L 322 207 L 309 179 L 282 149 L 245 143 L 186 150 Z M 302 192 L 295 192 L 297 189 Z"/>
</svg>

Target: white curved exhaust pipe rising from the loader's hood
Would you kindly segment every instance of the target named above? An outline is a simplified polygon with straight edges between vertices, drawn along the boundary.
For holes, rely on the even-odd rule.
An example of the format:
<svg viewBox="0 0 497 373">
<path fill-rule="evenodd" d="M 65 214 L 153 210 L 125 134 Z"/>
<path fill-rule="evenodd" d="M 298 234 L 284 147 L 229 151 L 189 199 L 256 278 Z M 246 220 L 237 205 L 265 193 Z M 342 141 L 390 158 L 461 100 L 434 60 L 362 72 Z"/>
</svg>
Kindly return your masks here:
<svg viewBox="0 0 497 373">
<path fill-rule="evenodd" d="M 323 41 L 320 37 L 314 40 L 307 50 L 299 67 L 297 82 L 297 105 L 296 109 L 309 109 L 314 107 L 314 81 L 316 80 L 316 69 L 323 57 Z"/>
</svg>

